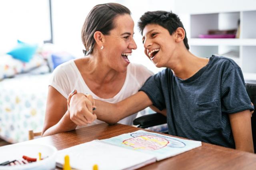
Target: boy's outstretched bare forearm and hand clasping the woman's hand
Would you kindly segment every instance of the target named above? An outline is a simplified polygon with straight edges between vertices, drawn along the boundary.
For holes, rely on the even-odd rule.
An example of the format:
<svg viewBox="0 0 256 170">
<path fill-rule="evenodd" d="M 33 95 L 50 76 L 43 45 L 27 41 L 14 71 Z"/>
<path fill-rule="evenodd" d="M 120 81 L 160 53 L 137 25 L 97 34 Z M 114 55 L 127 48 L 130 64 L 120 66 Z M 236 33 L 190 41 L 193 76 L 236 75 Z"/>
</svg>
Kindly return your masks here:
<svg viewBox="0 0 256 170">
<path fill-rule="evenodd" d="M 146 95 L 146 93 L 144 93 L 143 91 L 139 91 L 138 93 L 114 104 L 99 100 L 92 101 L 91 96 L 88 96 L 86 98 L 85 95 L 81 93 L 72 95 L 69 98 L 70 115 L 92 114 L 89 113 L 89 111 L 92 111 L 92 105 L 82 105 L 82 103 L 84 102 L 81 102 L 81 100 L 90 100 L 97 108 L 95 111 L 93 111 L 93 113 L 97 115 L 97 119 L 109 124 L 117 123 L 121 119 L 124 119 L 125 117 L 141 111 L 153 104 L 152 101 L 149 99 L 148 95 Z M 79 109 L 74 109 L 74 107 Z"/>
</svg>

